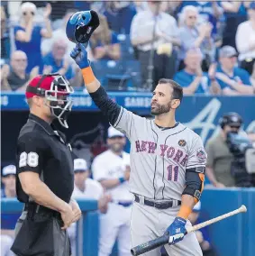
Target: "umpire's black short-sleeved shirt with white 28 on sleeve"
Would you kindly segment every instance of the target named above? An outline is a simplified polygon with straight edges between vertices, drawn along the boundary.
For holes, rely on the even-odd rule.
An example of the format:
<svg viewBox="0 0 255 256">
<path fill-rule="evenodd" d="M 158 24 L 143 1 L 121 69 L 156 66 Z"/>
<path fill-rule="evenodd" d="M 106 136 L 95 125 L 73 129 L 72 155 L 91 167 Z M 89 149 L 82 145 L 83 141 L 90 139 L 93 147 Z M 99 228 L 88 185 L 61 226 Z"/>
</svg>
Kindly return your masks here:
<svg viewBox="0 0 255 256">
<path fill-rule="evenodd" d="M 30 114 L 19 135 L 17 167 L 18 173 L 37 172 L 57 197 L 69 202 L 74 188 L 71 149 L 62 134 L 36 115 Z M 16 180 L 18 199 L 28 202 L 19 178 Z"/>
</svg>

